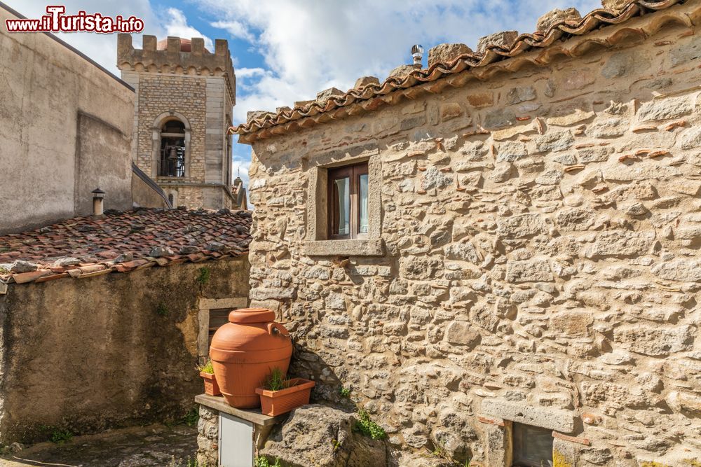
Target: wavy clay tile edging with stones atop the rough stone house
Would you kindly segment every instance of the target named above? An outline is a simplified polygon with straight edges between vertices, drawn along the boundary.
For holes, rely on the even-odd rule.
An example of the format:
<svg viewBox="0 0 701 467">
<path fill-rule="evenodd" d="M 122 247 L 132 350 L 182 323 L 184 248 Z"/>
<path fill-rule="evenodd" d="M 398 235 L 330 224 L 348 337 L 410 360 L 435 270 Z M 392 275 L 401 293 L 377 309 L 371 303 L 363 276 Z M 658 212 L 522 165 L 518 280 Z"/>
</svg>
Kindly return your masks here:
<svg viewBox="0 0 701 467">
<path fill-rule="evenodd" d="M 562 13 L 551 12 L 550 16 L 545 15 L 547 18 L 540 18 L 540 30 L 533 34 L 519 35 L 515 31 L 491 34 L 479 41 L 477 53 L 468 53 L 465 50 L 457 57 L 451 54 L 445 59 L 441 58 L 433 62 L 429 57 L 428 69 L 401 65 L 394 69 L 383 83 L 367 83 L 362 86 L 356 83 L 353 89 L 340 94 L 334 92 L 332 95 L 325 96 L 325 99 L 318 97 L 317 100 L 295 102 L 294 108 L 290 110 L 280 108 L 276 113 L 249 112 L 246 123 L 229 128 L 229 132 L 239 134 L 239 142 L 250 143 L 256 139 L 272 137 L 298 128 L 355 115 L 362 111 L 377 110 L 386 104 L 401 102 L 402 93 L 408 95 L 412 92 L 410 88 L 416 85 L 438 81 L 442 78 L 458 75 L 466 70 L 474 70 L 476 73 L 482 67 L 514 59 L 529 50 L 542 50 L 553 46 L 560 39 L 587 36 L 587 34 L 597 32 L 601 28 L 620 25 L 637 16 L 666 10 L 685 3 L 694 4 L 694 2 L 687 0 L 602 0 L 604 8 L 594 10 L 580 19 L 577 18 L 579 13 L 574 8 Z M 598 40 L 601 41 L 600 38 Z M 626 40 L 625 34 L 614 34 L 611 37 L 612 45 L 615 42 Z M 518 69 L 518 67 L 503 67 L 504 71 L 512 69 Z M 482 75 L 480 79 L 492 76 L 491 74 Z M 456 85 L 461 79 L 466 82 L 468 78 L 457 76 L 452 85 Z M 444 87 L 437 85 L 433 92 L 440 92 Z M 390 93 L 397 93 L 398 98 L 389 97 Z M 359 104 L 360 109 L 358 106 L 348 109 L 354 104 Z M 332 118 L 325 116 L 325 113 L 329 112 L 333 112 Z M 311 123 L 308 123 L 310 120 Z M 278 128 L 273 129 L 272 127 Z"/>
</svg>

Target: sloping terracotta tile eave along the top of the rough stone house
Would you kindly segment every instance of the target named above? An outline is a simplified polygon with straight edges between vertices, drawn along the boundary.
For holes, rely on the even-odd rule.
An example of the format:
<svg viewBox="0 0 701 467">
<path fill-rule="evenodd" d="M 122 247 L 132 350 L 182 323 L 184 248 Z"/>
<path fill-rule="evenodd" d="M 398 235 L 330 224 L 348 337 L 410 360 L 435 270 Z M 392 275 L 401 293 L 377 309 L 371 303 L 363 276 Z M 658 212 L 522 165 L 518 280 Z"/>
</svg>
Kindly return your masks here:
<svg viewBox="0 0 701 467">
<path fill-rule="evenodd" d="M 599 8 L 579 21 L 562 20 L 550 25 L 545 31 L 520 34 L 510 46 L 486 45 L 482 53 L 465 53 L 450 62 L 434 63 L 428 69 L 414 69 L 404 76 L 390 76 L 383 83 L 371 81 L 347 92 L 322 93 L 325 99 L 300 103 L 293 109 L 283 107 L 276 113 L 255 112 L 246 123 L 229 128 L 229 132 L 239 134 L 239 142 L 248 143 L 298 128 L 373 111 L 384 105 L 396 104 L 402 96 L 413 98 L 421 92 L 440 92 L 447 86 L 458 87 L 473 77 L 481 80 L 488 79 L 499 71 L 515 71 L 525 62 L 543 66 L 557 55 L 564 54 L 571 57 L 586 52 L 587 41 L 565 41 L 565 39 L 577 36 L 587 36 L 583 38 L 587 39 L 591 36 L 592 43 L 612 46 L 627 40 L 627 34 L 617 34 L 618 31 L 613 31 L 610 35 L 606 35 L 605 30 L 602 34 L 597 34 L 599 29 L 622 25 L 639 16 L 669 10 L 678 4 L 689 4 L 698 8 L 700 3 L 697 0 L 632 0 L 621 11 Z M 690 23 L 690 18 L 684 11 L 674 11 L 672 8 L 669 10 L 669 15 L 683 24 Z M 660 28 L 666 20 L 665 15 L 661 15 L 660 22 L 651 27 Z M 637 32 L 652 34 L 656 29 Z M 535 51 L 536 55 L 524 55 L 529 51 Z M 519 61 L 519 58 L 522 60 Z M 488 67 L 488 65 L 494 66 Z M 470 74 L 461 74 L 463 71 L 470 71 Z M 448 79 L 432 83 L 440 78 Z M 426 86 L 420 86 L 425 83 Z"/>
</svg>

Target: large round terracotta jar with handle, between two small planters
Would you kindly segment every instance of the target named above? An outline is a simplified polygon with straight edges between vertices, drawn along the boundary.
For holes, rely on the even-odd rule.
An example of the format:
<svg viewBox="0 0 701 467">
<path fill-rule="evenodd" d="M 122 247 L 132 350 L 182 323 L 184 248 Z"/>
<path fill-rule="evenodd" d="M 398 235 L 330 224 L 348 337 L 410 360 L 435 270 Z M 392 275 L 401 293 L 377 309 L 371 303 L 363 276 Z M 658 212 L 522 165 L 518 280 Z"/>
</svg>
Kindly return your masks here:
<svg viewBox="0 0 701 467">
<path fill-rule="evenodd" d="M 264 308 L 236 309 L 229 323 L 212 336 L 210 359 L 219 389 L 229 405 L 250 409 L 260 405 L 256 388 L 273 368 L 287 373 L 292 339 L 275 323 L 275 312 Z"/>
</svg>

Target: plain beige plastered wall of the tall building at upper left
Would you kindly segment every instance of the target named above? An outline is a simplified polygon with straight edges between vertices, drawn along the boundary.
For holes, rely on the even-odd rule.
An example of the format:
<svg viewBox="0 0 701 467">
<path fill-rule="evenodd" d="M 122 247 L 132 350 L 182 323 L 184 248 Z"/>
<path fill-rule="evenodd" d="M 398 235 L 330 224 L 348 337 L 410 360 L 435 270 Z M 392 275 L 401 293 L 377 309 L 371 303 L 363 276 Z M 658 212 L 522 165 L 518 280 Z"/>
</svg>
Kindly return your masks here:
<svg viewBox="0 0 701 467">
<path fill-rule="evenodd" d="M 0 232 L 130 209 L 134 92 L 46 34 L 9 34 L 0 8 Z M 82 116 L 82 117 L 81 117 Z"/>
</svg>

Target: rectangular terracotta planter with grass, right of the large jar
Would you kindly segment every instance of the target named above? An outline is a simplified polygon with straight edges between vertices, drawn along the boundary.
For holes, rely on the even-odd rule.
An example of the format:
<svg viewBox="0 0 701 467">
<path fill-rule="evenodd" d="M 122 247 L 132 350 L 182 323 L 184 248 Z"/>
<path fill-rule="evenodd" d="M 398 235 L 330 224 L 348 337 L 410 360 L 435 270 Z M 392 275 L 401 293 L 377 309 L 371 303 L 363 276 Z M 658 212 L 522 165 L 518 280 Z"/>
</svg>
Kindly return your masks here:
<svg viewBox="0 0 701 467">
<path fill-rule="evenodd" d="M 271 368 L 262 387 L 256 389 L 261 398 L 261 412 L 276 417 L 308 404 L 314 384 L 308 379 L 285 379 L 280 368 Z"/>
</svg>

